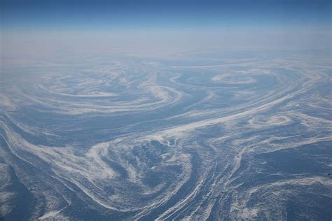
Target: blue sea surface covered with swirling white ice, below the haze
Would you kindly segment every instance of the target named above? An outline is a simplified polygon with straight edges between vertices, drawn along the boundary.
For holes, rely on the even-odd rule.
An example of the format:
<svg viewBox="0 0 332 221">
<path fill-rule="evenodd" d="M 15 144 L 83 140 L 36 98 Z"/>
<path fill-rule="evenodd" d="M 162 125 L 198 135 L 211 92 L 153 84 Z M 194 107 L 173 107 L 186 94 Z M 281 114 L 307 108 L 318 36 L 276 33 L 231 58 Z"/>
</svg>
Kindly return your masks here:
<svg viewBox="0 0 332 221">
<path fill-rule="evenodd" d="M 331 219 L 331 61 L 96 60 L 3 68 L 4 218 Z"/>
</svg>

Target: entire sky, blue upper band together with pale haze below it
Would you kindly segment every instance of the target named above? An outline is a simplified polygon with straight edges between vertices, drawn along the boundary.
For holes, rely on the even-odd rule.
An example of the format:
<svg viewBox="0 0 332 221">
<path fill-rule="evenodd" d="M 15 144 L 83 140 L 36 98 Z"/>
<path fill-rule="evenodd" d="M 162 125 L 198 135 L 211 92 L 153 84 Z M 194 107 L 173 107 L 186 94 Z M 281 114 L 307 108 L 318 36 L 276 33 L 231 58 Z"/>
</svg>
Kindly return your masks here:
<svg viewBox="0 0 332 221">
<path fill-rule="evenodd" d="M 3 54 L 331 47 L 331 1 L 0 1 Z M 29 54 L 29 53 L 28 53 Z"/>
</svg>

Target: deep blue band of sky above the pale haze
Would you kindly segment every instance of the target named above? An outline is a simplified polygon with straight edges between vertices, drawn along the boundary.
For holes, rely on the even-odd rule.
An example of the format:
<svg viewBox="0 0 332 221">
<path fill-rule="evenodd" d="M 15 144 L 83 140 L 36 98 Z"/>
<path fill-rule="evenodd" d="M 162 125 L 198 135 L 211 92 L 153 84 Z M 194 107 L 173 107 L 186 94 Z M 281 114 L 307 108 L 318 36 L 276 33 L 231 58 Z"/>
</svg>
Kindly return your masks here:
<svg viewBox="0 0 332 221">
<path fill-rule="evenodd" d="M 5 29 L 329 27 L 330 1 L 1 1 Z"/>
</svg>

